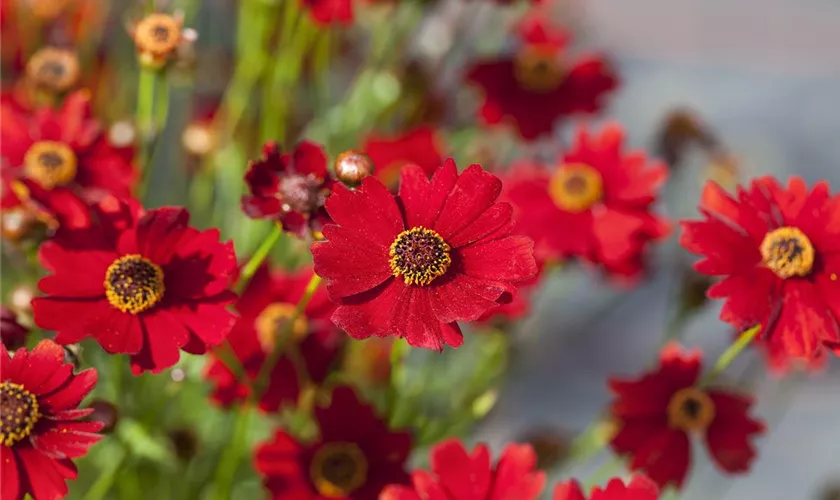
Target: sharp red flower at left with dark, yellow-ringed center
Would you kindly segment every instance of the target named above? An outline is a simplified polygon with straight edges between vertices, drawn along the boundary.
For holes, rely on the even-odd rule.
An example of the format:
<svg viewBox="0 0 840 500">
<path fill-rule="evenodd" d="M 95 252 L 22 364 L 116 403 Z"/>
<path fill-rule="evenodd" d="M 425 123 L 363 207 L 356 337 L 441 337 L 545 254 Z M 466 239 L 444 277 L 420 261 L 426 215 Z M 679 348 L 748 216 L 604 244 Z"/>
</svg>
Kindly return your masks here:
<svg viewBox="0 0 840 500">
<path fill-rule="evenodd" d="M 186 209 L 142 214 L 112 202 L 97 207 L 97 226 L 41 245 L 52 274 L 32 301 L 35 323 L 58 332 L 60 344 L 90 336 L 109 353 L 131 354 L 135 373 L 174 365 L 180 349 L 203 354 L 220 344 L 235 319 L 226 309 L 236 298 L 233 244 L 190 227 Z"/>
</svg>

